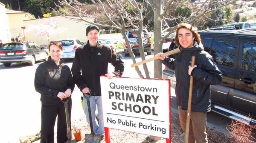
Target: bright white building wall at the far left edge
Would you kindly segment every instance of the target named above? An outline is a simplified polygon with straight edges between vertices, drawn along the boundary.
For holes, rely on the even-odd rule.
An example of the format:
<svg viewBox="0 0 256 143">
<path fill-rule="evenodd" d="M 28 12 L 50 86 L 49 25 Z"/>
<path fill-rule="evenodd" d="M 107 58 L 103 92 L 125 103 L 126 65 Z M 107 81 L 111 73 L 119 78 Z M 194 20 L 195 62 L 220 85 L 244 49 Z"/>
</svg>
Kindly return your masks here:
<svg viewBox="0 0 256 143">
<path fill-rule="evenodd" d="M 8 43 L 11 41 L 11 36 L 10 36 L 9 22 L 6 16 L 6 8 L 3 3 L 0 3 L 0 17 L 1 17 L 0 40 L 2 40 L 3 43 Z"/>
</svg>

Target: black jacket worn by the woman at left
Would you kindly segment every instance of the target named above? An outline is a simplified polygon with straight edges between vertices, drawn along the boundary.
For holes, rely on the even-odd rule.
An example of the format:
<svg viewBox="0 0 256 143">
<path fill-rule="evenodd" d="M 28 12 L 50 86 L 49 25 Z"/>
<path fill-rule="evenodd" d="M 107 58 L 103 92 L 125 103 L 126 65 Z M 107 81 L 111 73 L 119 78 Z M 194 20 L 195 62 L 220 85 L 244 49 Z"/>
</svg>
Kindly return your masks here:
<svg viewBox="0 0 256 143">
<path fill-rule="evenodd" d="M 62 60 L 57 66 L 48 57 L 48 61 L 41 63 L 35 72 L 35 90 L 41 94 L 41 102 L 44 106 L 54 106 L 63 104 L 57 97 L 59 92 L 71 89 L 73 92 L 75 83 L 70 68 L 64 65 Z"/>
</svg>

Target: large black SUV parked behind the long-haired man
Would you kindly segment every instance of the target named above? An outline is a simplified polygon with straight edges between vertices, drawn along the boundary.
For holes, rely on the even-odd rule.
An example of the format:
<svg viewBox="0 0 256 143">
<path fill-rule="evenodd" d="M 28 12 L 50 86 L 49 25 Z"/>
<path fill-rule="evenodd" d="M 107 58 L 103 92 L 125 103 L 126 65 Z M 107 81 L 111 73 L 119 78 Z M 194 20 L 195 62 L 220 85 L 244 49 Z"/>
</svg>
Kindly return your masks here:
<svg viewBox="0 0 256 143">
<path fill-rule="evenodd" d="M 199 34 L 204 50 L 212 55 L 223 74 L 222 83 L 211 86 L 212 111 L 248 125 L 255 124 L 256 31 L 207 30 Z M 171 79 L 175 86 L 174 71 L 164 69 L 163 78 Z"/>
</svg>

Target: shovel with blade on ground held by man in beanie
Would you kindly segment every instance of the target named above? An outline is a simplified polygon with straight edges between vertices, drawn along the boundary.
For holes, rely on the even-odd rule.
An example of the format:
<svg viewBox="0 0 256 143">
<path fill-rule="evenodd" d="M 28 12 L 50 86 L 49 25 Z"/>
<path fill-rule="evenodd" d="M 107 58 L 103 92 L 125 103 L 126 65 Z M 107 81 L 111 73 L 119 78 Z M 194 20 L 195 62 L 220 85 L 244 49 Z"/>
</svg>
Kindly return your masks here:
<svg viewBox="0 0 256 143">
<path fill-rule="evenodd" d="M 84 93 L 83 93 L 84 94 Z M 85 134 L 85 143 L 100 143 L 100 134 L 95 134 L 93 132 L 93 120 L 92 120 L 92 113 L 90 111 L 90 96 L 92 94 L 92 91 L 90 90 L 90 94 L 84 94 L 84 98 L 87 100 L 87 107 L 88 107 L 88 113 L 89 113 L 89 120 L 90 120 L 90 134 Z"/>
</svg>

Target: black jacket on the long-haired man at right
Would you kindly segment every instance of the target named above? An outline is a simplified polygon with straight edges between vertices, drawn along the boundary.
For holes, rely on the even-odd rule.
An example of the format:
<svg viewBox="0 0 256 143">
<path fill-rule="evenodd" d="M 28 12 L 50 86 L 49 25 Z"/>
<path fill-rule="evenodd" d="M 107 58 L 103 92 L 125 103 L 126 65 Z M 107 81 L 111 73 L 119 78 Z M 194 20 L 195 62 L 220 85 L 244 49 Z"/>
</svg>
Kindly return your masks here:
<svg viewBox="0 0 256 143">
<path fill-rule="evenodd" d="M 195 56 L 195 65 L 191 72 L 193 76 L 193 92 L 191 111 L 207 112 L 210 110 L 210 85 L 217 85 L 222 81 L 222 73 L 218 69 L 212 56 L 204 51 L 204 46 L 197 42 L 191 48 L 179 47 L 180 53 L 176 59 L 165 58 L 160 60 L 169 69 L 175 69 L 176 76 L 176 102 L 181 109 L 187 109 L 189 98 L 190 75 L 188 66 L 191 57 Z"/>
</svg>

